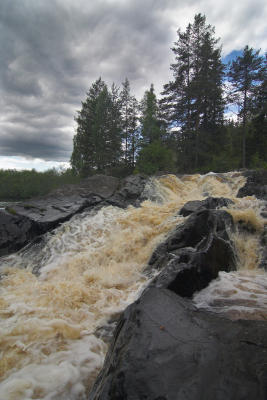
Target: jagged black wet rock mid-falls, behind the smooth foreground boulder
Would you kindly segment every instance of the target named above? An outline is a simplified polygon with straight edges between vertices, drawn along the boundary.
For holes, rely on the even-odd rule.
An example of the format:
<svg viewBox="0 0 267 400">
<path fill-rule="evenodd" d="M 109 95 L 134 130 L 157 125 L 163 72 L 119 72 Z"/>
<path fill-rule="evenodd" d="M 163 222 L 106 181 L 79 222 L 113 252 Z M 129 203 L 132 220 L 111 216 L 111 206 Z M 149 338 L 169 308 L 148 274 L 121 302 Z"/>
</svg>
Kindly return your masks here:
<svg viewBox="0 0 267 400">
<path fill-rule="evenodd" d="M 217 278 L 219 271 L 235 270 L 235 252 L 228 234 L 233 229 L 226 211 L 192 214 L 152 254 L 147 272 L 161 272 L 151 285 L 191 297 Z"/>
</svg>

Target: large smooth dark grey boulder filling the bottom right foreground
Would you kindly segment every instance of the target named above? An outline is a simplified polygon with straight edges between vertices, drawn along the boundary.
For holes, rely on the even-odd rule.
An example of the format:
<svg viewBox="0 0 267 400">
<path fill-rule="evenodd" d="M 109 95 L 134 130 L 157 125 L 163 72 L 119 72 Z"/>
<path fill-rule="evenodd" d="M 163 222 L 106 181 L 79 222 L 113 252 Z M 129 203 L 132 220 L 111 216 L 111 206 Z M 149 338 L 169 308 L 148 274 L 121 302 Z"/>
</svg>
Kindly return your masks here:
<svg viewBox="0 0 267 400">
<path fill-rule="evenodd" d="M 265 400 L 267 324 L 151 288 L 123 313 L 89 400 Z"/>
</svg>

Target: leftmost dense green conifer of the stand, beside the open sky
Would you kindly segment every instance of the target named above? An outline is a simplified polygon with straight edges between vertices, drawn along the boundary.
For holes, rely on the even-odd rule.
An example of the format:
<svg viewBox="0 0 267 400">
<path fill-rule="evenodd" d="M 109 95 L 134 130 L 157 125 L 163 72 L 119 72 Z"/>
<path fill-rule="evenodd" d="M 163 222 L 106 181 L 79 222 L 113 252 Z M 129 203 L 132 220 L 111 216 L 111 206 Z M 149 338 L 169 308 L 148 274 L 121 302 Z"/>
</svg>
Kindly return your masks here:
<svg viewBox="0 0 267 400">
<path fill-rule="evenodd" d="M 120 112 L 117 91 L 108 91 L 99 78 L 94 82 L 78 111 L 71 165 L 81 175 L 105 171 L 118 162 L 121 154 Z"/>
</svg>

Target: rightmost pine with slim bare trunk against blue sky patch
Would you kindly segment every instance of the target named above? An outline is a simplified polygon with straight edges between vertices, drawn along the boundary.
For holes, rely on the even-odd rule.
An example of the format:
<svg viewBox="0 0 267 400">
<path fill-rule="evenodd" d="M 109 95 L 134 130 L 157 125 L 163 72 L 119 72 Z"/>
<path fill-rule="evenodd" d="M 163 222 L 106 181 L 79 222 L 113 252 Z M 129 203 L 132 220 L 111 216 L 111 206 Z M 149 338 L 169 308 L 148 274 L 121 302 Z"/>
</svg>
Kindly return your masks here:
<svg viewBox="0 0 267 400">
<path fill-rule="evenodd" d="M 262 78 L 263 58 L 259 50 L 245 46 L 241 56 L 233 60 L 228 71 L 232 85 L 231 99 L 239 107 L 242 121 L 242 166 L 246 167 L 246 136 L 249 116 L 253 112 L 253 102 Z"/>
</svg>

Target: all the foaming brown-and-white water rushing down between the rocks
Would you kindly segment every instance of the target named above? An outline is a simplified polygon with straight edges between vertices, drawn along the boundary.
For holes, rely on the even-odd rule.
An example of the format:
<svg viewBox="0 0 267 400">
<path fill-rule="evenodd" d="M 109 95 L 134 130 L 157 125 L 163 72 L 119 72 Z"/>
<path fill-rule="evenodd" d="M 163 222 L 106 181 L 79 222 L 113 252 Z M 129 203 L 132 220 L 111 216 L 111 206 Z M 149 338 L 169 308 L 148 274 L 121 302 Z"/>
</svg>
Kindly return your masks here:
<svg viewBox="0 0 267 400">
<path fill-rule="evenodd" d="M 244 292 L 244 301 L 252 293 L 255 308 L 262 307 L 266 274 L 255 272 L 261 203 L 235 198 L 244 183 L 238 173 L 160 177 L 147 184 L 151 200 L 141 207 L 75 216 L 47 234 L 44 244 L 3 258 L 0 400 L 86 398 L 107 351 L 101 327 L 148 284 L 142 271 L 153 249 L 184 221 L 177 211 L 189 200 L 232 198 L 233 217 L 247 219 L 256 231 L 234 237 L 242 271 L 221 274 L 195 297 L 196 305 L 212 309 L 216 298 L 218 308 Z M 240 312 L 243 302 L 238 307 Z"/>
</svg>

